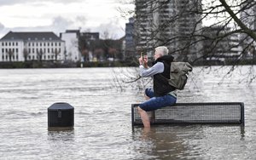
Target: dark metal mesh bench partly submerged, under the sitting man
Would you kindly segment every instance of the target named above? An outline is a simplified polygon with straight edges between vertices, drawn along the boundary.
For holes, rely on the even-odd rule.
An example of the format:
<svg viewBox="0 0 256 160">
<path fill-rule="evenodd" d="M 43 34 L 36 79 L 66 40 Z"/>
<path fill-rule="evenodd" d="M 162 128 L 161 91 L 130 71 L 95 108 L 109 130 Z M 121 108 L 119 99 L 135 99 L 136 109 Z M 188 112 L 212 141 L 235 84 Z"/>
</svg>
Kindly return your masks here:
<svg viewBox="0 0 256 160">
<path fill-rule="evenodd" d="M 143 125 L 137 111 L 139 104 L 131 105 L 131 125 Z M 155 111 L 148 111 L 151 124 L 211 124 L 239 123 L 244 126 L 242 102 L 177 103 Z"/>
</svg>

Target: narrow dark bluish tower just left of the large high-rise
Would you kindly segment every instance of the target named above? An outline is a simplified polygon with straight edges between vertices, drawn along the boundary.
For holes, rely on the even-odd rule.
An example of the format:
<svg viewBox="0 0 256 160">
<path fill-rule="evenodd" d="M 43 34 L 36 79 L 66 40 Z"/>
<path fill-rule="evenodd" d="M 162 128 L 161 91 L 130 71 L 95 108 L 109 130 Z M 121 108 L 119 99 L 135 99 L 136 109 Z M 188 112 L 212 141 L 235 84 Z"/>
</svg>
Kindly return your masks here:
<svg viewBox="0 0 256 160">
<path fill-rule="evenodd" d="M 130 18 L 129 23 L 125 24 L 125 59 L 134 57 L 136 54 L 134 36 L 134 18 Z"/>
</svg>

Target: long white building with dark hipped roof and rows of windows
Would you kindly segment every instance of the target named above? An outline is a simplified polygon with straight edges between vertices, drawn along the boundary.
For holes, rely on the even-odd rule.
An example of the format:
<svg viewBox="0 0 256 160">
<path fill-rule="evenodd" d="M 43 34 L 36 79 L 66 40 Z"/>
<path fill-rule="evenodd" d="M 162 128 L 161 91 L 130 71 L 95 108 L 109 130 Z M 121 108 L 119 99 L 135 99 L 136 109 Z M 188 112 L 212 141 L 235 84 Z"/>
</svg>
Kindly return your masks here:
<svg viewBox="0 0 256 160">
<path fill-rule="evenodd" d="M 65 60 L 65 42 L 53 32 L 9 31 L 0 39 L 0 61 Z"/>
</svg>

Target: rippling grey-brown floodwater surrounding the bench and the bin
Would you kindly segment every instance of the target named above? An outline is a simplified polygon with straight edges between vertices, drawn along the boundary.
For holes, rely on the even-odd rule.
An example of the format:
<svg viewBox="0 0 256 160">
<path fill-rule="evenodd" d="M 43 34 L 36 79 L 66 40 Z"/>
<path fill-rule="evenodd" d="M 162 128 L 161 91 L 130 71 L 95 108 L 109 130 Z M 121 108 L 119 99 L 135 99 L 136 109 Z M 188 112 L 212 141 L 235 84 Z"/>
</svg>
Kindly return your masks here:
<svg viewBox="0 0 256 160">
<path fill-rule="evenodd" d="M 127 83 L 120 91 L 113 85 L 113 70 L 119 72 L 0 70 L 0 159 L 256 158 L 256 84 L 247 82 L 255 66 L 227 75 L 228 68 L 195 68 L 186 89 L 178 92 L 177 102 L 244 102 L 244 128 L 198 124 L 137 127 L 134 132 L 131 104 L 143 101 L 143 91 Z M 55 102 L 74 107 L 73 130 L 48 131 L 47 109 Z"/>
</svg>

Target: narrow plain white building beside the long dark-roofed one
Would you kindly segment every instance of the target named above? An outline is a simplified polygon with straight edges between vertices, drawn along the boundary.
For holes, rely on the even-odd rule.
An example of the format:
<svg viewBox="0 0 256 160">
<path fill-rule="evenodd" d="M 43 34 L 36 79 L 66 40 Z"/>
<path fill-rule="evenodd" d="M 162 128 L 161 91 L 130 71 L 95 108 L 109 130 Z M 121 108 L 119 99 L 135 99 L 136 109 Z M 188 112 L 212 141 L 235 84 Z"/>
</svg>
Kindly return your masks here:
<svg viewBox="0 0 256 160">
<path fill-rule="evenodd" d="M 66 60 L 77 62 L 81 60 L 79 52 L 79 30 L 67 30 L 61 33 L 61 40 L 65 41 Z"/>
</svg>

